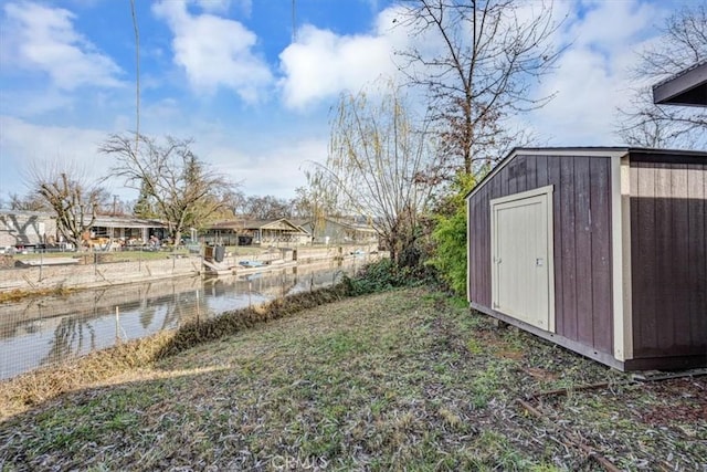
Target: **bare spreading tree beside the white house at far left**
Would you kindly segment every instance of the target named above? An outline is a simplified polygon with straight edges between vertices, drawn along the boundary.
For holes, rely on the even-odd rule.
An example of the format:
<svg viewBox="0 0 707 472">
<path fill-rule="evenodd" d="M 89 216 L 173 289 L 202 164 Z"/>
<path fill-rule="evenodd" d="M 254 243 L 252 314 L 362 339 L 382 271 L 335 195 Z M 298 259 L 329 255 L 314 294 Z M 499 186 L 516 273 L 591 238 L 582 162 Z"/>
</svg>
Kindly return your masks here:
<svg viewBox="0 0 707 472">
<path fill-rule="evenodd" d="M 91 183 L 84 174 L 68 164 L 32 165 L 30 185 L 56 213 L 56 229 L 76 248 L 82 245 L 93 227 L 105 190 Z"/>
</svg>

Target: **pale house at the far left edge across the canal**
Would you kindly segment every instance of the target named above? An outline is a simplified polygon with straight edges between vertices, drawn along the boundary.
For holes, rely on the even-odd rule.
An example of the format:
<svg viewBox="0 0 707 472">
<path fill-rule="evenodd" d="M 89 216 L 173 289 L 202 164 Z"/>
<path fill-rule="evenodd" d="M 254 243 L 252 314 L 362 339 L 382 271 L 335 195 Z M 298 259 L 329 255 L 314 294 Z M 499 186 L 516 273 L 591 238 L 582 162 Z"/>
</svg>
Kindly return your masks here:
<svg viewBox="0 0 707 472">
<path fill-rule="evenodd" d="M 59 242 L 56 218 L 41 211 L 0 210 L 0 248 Z"/>
</svg>

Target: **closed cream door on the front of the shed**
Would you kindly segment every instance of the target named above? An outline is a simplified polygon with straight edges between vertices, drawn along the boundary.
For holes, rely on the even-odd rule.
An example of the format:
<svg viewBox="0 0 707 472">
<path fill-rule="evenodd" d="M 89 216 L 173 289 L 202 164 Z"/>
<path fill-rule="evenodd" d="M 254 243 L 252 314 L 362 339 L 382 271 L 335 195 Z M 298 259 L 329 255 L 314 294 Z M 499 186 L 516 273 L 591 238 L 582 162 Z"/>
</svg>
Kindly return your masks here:
<svg viewBox="0 0 707 472">
<path fill-rule="evenodd" d="M 494 310 L 555 329 L 552 187 L 492 200 Z"/>
</svg>

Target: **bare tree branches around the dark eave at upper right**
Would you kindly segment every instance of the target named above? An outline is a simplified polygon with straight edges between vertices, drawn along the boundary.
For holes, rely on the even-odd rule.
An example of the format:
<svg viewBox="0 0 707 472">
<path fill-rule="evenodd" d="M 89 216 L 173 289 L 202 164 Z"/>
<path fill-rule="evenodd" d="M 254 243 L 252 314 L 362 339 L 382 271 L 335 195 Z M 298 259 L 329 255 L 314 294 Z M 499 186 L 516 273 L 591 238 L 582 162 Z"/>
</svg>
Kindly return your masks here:
<svg viewBox="0 0 707 472">
<path fill-rule="evenodd" d="M 641 84 L 619 109 L 616 133 L 631 146 L 707 148 L 705 108 L 655 105 L 652 85 L 707 61 L 707 6 L 685 4 L 661 29 L 661 39 L 632 70 Z"/>
</svg>

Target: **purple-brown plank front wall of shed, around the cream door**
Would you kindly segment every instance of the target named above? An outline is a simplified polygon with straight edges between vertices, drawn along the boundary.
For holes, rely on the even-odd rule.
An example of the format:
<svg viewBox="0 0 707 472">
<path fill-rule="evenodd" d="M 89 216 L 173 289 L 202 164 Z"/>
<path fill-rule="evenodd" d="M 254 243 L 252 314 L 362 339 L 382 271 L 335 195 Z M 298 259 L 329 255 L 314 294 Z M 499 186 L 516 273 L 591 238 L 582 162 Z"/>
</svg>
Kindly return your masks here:
<svg viewBox="0 0 707 472">
<path fill-rule="evenodd" d="M 611 159 L 518 155 L 468 200 L 469 298 L 492 310 L 492 199 L 552 185 L 556 332 L 613 350 Z"/>
</svg>

